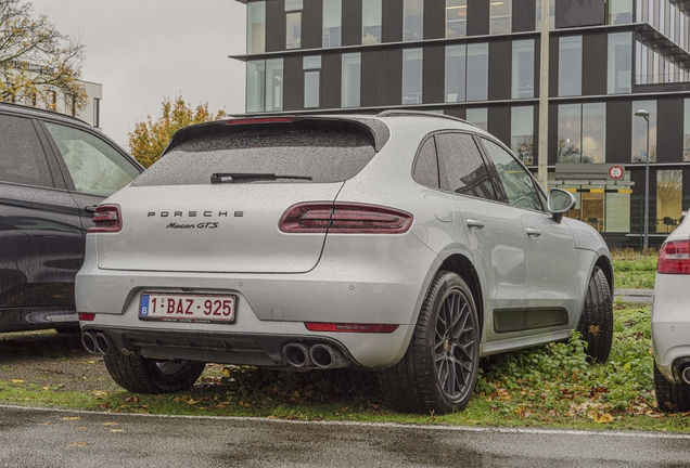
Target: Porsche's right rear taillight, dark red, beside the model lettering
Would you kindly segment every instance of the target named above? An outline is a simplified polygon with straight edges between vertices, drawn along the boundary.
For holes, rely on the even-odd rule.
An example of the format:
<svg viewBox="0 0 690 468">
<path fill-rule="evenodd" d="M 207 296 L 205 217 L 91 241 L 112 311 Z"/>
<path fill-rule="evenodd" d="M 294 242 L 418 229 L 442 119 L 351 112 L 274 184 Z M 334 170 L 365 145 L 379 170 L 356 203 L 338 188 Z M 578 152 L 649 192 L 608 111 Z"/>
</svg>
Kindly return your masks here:
<svg viewBox="0 0 690 468">
<path fill-rule="evenodd" d="M 403 234 L 412 214 L 375 205 L 306 203 L 289 208 L 279 227 L 285 233 Z"/>
</svg>

